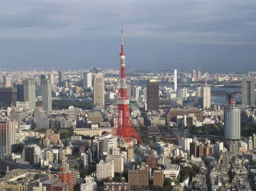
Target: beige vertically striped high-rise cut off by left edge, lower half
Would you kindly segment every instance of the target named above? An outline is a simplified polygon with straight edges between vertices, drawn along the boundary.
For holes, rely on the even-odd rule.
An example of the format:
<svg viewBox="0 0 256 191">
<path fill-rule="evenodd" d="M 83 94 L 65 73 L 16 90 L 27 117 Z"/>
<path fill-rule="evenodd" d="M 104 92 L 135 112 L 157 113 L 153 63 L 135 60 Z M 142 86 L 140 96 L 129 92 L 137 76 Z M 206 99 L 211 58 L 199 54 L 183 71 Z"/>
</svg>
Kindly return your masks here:
<svg viewBox="0 0 256 191">
<path fill-rule="evenodd" d="M 11 155 L 14 151 L 16 143 L 16 127 L 17 121 L 14 119 L 6 119 L 0 121 L 0 156 Z"/>
</svg>

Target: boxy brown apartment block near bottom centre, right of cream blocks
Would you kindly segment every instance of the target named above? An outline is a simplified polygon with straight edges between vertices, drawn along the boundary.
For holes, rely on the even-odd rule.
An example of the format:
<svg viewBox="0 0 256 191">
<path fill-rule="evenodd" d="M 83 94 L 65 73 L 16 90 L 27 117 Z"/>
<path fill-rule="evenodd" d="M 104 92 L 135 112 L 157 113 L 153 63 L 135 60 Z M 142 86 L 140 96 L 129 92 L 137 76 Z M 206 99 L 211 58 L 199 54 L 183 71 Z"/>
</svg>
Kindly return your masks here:
<svg viewBox="0 0 256 191">
<path fill-rule="evenodd" d="M 142 164 L 141 167 L 132 166 L 132 170 L 128 170 L 128 182 L 131 186 L 149 186 L 149 167 Z"/>
</svg>

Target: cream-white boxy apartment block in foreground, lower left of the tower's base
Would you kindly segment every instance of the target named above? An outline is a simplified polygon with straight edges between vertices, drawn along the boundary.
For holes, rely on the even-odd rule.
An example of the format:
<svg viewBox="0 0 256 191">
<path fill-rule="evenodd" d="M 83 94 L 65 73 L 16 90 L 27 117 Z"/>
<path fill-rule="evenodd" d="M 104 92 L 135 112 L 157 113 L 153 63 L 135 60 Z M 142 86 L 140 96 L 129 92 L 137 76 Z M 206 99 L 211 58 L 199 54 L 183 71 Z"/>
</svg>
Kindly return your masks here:
<svg viewBox="0 0 256 191">
<path fill-rule="evenodd" d="M 105 163 L 103 160 L 96 165 L 97 181 L 105 180 L 106 178 L 114 178 L 114 163 Z"/>
</svg>

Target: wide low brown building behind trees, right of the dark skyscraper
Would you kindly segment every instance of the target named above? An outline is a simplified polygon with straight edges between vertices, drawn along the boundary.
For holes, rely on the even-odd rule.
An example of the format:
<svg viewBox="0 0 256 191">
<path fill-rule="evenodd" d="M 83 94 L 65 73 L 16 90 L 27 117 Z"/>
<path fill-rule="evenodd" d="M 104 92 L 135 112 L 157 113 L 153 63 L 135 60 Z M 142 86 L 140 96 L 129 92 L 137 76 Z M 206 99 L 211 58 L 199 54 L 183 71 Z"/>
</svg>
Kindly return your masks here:
<svg viewBox="0 0 256 191">
<path fill-rule="evenodd" d="M 196 119 L 200 120 L 203 119 L 203 112 L 200 111 L 198 108 L 191 108 L 191 109 L 176 109 L 172 108 L 166 115 L 166 122 L 172 121 L 171 119 L 176 119 L 177 116 L 188 116 L 189 114 L 195 114 Z"/>
</svg>

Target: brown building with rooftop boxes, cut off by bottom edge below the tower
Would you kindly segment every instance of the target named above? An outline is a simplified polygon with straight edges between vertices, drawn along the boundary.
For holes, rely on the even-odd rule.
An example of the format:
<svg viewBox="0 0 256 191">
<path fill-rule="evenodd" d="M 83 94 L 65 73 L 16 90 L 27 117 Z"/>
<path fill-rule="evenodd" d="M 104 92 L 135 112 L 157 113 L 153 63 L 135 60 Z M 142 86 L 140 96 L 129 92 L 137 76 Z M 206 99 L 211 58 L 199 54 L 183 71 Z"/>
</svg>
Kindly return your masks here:
<svg viewBox="0 0 256 191">
<path fill-rule="evenodd" d="M 109 178 L 109 182 L 103 182 L 104 184 L 104 190 L 106 191 L 129 191 L 130 190 L 130 184 L 129 182 L 125 182 L 124 177 L 121 178 L 121 182 L 113 182 L 112 178 Z"/>
</svg>

